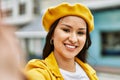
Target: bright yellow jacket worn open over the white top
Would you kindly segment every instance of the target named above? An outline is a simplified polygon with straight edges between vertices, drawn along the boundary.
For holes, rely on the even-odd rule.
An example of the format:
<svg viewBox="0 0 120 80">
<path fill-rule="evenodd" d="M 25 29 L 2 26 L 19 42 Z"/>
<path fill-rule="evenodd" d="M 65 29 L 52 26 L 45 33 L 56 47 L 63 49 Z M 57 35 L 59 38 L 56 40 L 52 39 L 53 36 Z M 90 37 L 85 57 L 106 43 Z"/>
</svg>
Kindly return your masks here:
<svg viewBox="0 0 120 80">
<path fill-rule="evenodd" d="M 90 80 L 98 80 L 92 67 L 78 58 L 75 58 L 75 60 L 81 65 Z M 29 80 L 64 80 L 53 53 L 45 60 L 33 59 L 29 61 L 25 70 Z"/>
</svg>

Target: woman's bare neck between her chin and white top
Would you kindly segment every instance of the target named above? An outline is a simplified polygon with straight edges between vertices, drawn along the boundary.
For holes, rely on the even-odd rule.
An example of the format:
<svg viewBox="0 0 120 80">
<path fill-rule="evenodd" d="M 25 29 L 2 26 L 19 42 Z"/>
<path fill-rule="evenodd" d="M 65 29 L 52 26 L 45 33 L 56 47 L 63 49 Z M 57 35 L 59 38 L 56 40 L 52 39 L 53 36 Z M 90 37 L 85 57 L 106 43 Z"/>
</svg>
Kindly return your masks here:
<svg viewBox="0 0 120 80">
<path fill-rule="evenodd" d="M 75 60 L 74 58 L 63 58 L 59 56 L 58 54 L 55 54 L 56 61 L 58 63 L 59 68 L 62 68 L 64 70 L 70 71 L 70 72 L 75 72 Z"/>
</svg>

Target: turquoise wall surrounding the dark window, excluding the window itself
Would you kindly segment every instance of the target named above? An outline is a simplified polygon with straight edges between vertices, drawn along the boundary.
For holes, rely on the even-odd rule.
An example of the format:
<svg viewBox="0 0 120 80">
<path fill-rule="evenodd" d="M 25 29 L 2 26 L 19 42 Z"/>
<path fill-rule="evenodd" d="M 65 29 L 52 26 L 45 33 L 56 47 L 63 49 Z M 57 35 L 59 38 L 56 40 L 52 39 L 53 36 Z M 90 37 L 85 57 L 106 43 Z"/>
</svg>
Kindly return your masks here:
<svg viewBox="0 0 120 80">
<path fill-rule="evenodd" d="M 88 62 L 94 66 L 120 67 L 120 53 L 118 53 L 118 55 L 115 55 L 115 53 L 113 53 L 112 55 L 109 54 L 107 56 L 102 55 L 102 41 L 106 38 L 103 39 L 103 37 L 101 36 L 102 32 L 120 32 L 120 8 L 93 11 L 93 15 L 95 18 L 95 30 L 91 33 L 92 46 L 89 50 Z M 120 36 L 120 33 L 118 36 Z M 113 43 L 117 39 L 119 38 L 114 38 L 113 40 L 111 40 L 111 43 Z M 118 41 L 118 45 L 120 46 L 120 40 Z"/>
</svg>

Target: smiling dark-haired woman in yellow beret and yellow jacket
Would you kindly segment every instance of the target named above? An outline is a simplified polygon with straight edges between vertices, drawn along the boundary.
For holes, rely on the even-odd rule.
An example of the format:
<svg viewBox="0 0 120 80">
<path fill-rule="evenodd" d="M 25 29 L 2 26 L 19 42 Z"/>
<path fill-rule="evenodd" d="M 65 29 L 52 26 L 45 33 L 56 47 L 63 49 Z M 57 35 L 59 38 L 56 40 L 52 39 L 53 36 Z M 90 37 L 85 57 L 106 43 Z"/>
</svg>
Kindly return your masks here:
<svg viewBox="0 0 120 80">
<path fill-rule="evenodd" d="M 62 3 L 48 8 L 43 18 L 48 31 L 43 60 L 26 65 L 30 80 L 98 80 L 86 62 L 94 29 L 93 16 L 83 4 Z"/>
</svg>

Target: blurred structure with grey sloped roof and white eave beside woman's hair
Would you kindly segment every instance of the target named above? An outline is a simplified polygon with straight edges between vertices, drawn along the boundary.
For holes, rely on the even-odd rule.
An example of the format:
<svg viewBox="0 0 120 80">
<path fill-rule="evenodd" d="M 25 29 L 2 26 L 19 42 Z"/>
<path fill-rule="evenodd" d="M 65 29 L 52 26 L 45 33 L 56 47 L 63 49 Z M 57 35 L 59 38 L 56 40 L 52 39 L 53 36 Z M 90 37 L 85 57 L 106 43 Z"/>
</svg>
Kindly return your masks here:
<svg viewBox="0 0 120 80">
<path fill-rule="evenodd" d="M 42 58 L 47 32 L 42 27 L 41 16 L 18 30 L 16 34 L 20 38 L 23 50 L 28 54 L 28 59 Z"/>
</svg>

